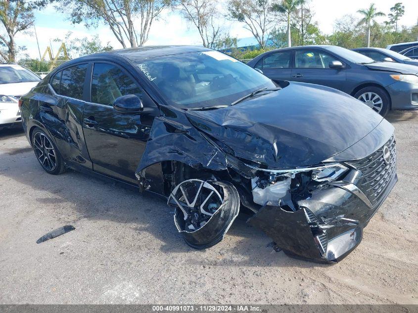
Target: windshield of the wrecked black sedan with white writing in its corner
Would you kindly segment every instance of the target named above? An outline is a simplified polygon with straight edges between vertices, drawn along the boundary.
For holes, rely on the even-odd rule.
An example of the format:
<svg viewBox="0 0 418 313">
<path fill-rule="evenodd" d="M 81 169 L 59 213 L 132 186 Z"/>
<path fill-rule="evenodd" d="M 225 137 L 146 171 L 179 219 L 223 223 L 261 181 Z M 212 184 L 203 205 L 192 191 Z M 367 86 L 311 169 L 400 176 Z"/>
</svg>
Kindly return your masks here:
<svg viewBox="0 0 418 313">
<path fill-rule="evenodd" d="M 275 88 L 266 76 L 218 51 L 168 55 L 135 63 L 169 104 L 181 108 L 231 105 L 260 88 Z"/>
</svg>

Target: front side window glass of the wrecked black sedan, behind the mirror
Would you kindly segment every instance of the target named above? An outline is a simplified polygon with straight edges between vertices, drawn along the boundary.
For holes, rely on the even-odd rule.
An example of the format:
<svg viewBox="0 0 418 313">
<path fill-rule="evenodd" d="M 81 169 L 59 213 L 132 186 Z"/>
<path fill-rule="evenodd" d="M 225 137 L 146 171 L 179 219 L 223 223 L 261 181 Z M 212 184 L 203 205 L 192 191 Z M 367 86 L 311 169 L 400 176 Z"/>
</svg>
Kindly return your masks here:
<svg viewBox="0 0 418 313">
<path fill-rule="evenodd" d="M 92 102 L 112 105 L 116 98 L 135 94 L 142 98 L 138 85 L 119 67 L 107 63 L 94 63 Z"/>
</svg>

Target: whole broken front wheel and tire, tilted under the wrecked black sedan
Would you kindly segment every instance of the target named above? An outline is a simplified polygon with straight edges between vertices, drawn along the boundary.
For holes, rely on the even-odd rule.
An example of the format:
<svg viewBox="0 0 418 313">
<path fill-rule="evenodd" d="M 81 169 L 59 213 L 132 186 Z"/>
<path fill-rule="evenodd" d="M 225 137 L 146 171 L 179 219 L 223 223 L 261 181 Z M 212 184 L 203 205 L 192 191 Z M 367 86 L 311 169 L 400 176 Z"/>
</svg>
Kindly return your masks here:
<svg viewBox="0 0 418 313">
<path fill-rule="evenodd" d="M 239 195 L 229 182 L 188 179 L 168 199 L 175 207 L 174 223 L 186 243 L 206 249 L 223 238 L 239 212 Z"/>
</svg>

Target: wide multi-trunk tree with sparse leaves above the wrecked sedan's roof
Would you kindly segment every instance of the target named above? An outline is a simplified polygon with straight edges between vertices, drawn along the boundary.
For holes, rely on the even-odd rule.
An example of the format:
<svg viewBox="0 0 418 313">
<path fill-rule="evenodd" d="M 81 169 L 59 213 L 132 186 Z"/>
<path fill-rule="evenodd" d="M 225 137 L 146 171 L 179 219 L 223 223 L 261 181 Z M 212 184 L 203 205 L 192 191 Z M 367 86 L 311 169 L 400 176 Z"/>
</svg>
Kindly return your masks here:
<svg viewBox="0 0 418 313">
<path fill-rule="evenodd" d="M 70 14 L 73 23 L 84 22 L 91 27 L 103 22 L 124 48 L 143 45 L 148 40 L 152 22 L 170 4 L 170 0 L 56 1 L 59 3 L 57 9 Z"/>
</svg>

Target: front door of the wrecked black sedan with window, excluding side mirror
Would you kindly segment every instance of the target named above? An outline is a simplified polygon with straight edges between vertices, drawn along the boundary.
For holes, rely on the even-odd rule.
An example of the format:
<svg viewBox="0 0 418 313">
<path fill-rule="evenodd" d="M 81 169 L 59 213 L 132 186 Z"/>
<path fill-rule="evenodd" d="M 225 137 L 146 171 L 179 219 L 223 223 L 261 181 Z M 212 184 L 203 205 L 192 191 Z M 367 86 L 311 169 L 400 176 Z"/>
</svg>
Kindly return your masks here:
<svg viewBox="0 0 418 313">
<path fill-rule="evenodd" d="M 113 102 L 135 94 L 143 103 L 140 113 L 120 113 Z M 122 67 L 95 62 L 91 101 L 83 113 L 83 130 L 95 172 L 136 183 L 135 171 L 145 149 L 158 107 Z"/>
</svg>

